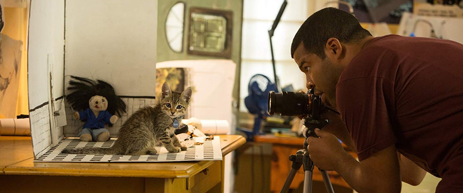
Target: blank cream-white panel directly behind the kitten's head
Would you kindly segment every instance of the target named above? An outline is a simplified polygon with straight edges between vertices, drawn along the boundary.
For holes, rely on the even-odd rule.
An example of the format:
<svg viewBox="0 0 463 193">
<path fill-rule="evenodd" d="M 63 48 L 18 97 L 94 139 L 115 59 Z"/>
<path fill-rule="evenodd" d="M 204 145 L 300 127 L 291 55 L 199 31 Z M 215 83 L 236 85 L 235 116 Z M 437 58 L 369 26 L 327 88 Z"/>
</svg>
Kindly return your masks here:
<svg viewBox="0 0 463 193">
<path fill-rule="evenodd" d="M 188 68 L 188 86 L 194 88 L 189 106 L 200 119 L 232 120 L 232 91 L 236 64 L 232 60 L 176 60 L 158 62 L 156 68 Z M 213 81 L 211 81 L 213 80 Z M 234 133 L 231 127 L 229 133 Z"/>
</svg>

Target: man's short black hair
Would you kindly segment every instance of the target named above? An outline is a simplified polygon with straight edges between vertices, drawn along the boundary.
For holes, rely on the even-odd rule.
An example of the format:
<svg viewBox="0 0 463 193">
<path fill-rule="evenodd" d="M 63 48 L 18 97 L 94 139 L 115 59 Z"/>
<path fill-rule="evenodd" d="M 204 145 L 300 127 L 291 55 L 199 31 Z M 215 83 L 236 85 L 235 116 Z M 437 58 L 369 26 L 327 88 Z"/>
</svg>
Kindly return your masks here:
<svg viewBox="0 0 463 193">
<path fill-rule="evenodd" d="M 342 43 L 349 44 L 371 36 L 363 29 L 357 18 L 348 12 L 328 7 L 313 13 L 300 26 L 291 44 L 291 57 L 302 42 L 304 48 L 325 59 L 325 44 L 331 37 L 336 37 Z"/>
</svg>

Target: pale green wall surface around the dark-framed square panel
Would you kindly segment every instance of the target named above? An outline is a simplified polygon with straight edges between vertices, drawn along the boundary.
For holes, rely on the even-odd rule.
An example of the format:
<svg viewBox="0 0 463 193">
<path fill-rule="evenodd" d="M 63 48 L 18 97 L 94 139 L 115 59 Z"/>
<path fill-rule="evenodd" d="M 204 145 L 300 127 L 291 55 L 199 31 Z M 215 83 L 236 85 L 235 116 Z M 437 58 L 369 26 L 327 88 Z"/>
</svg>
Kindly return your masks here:
<svg viewBox="0 0 463 193">
<path fill-rule="evenodd" d="M 171 12 L 172 7 L 178 3 L 184 3 L 183 9 L 181 12 L 176 11 L 176 16 L 179 16 L 178 20 L 175 19 L 175 26 L 179 27 L 181 34 L 178 37 L 175 37 L 175 40 L 181 41 L 180 51 L 175 51 L 176 49 L 171 49 L 169 46 L 169 41 L 172 38 L 169 38 L 169 12 Z M 242 18 L 243 18 L 243 0 L 188 0 L 188 1 L 178 1 L 178 0 L 163 0 L 160 1 L 158 9 L 158 18 L 157 18 L 157 62 L 164 61 L 173 61 L 173 60 L 204 60 L 204 59 L 231 59 L 235 64 L 235 78 L 234 78 L 234 87 L 233 87 L 233 103 L 236 105 L 233 106 L 232 103 L 224 104 L 233 106 L 234 114 L 237 114 L 237 105 L 239 99 L 239 80 L 240 80 L 240 64 L 241 64 L 241 36 L 242 36 Z M 230 56 L 214 56 L 207 54 L 192 54 L 188 52 L 188 46 L 190 45 L 190 32 L 191 32 L 191 14 L 192 12 L 197 12 L 197 8 L 212 10 L 215 11 L 212 14 L 223 15 L 224 12 L 231 12 L 232 19 L 230 24 L 232 24 L 231 33 L 231 48 Z M 183 17 L 181 17 L 183 16 Z M 167 23 L 166 23 L 167 22 Z M 228 21 L 227 21 L 228 22 Z M 166 28 L 167 26 L 167 28 Z M 177 33 L 175 33 L 177 35 Z M 234 131 L 235 123 L 231 122 L 232 130 Z"/>
</svg>

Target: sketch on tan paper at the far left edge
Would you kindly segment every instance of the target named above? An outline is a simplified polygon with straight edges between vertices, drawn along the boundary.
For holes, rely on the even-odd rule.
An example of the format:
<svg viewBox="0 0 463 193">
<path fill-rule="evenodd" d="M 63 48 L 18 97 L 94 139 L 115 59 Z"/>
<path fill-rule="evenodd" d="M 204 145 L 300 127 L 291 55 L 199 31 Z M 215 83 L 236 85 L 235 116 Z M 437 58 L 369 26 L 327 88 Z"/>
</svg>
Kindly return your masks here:
<svg viewBox="0 0 463 193">
<path fill-rule="evenodd" d="M 0 31 L 5 25 L 1 10 Z M 19 70 L 22 42 L 0 34 L 0 113 L 6 118 L 14 118 L 18 99 Z"/>
</svg>

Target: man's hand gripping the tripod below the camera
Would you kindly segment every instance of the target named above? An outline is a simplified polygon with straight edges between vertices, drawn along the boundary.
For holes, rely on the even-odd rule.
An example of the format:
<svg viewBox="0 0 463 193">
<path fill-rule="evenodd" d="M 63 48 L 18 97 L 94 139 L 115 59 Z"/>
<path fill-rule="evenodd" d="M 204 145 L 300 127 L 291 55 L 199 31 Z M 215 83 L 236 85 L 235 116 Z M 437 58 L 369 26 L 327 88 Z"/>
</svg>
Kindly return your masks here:
<svg viewBox="0 0 463 193">
<path fill-rule="evenodd" d="M 308 137 L 310 159 L 315 166 L 327 171 L 337 170 L 341 158 L 347 154 L 343 146 L 331 133 L 315 129 L 315 134 L 320 138 Z M 347 154 L 348 155 L 348 154 Z"/>
</svg>

